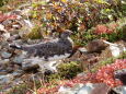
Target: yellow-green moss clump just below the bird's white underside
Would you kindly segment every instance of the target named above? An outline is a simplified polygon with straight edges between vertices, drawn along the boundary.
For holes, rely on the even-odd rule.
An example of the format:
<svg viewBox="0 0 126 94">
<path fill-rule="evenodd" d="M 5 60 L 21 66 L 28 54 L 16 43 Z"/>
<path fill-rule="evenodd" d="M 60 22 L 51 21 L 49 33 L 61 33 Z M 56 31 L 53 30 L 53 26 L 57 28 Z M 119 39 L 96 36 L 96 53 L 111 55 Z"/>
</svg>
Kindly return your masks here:
<svg viewBox="0 0 126 94">
<path fill-rule="evenodd" d="M 51 81 L 51 80 L 72 79 L 80 72 L 82 72 L 82 70 L 79 66 L 79 62 L 71 61 L 67 63 L 61 63 L 58 67 L 58 73 L 48 75 L 47 80 Z"/>
</svg>

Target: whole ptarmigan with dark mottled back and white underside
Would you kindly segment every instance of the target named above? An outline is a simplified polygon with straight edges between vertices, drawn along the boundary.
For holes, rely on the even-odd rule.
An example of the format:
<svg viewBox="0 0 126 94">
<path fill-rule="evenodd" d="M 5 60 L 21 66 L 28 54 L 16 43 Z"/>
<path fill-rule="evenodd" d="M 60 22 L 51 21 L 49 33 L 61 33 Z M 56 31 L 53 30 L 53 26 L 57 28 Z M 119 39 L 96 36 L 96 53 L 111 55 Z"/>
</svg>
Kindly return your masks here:
<svg viewBox="0 0 126 94">
<path fill-rule="evenodd" d="M 48 69 L 56 72 L 56 67 L 53 66 L 56 64 L 57 61 L 66 59 L 73 54 L 73 42 L 69 37 L 71 34 L 71 31 L 66 30 L 56 39 L 34 45 L 20 46 L 11 44 L 10 47 L 24 50 L 26 55 L 31 56 L 31 58 L 24 59 L 24 61 L 38 63 L 43 71 Z"/>
</svg>

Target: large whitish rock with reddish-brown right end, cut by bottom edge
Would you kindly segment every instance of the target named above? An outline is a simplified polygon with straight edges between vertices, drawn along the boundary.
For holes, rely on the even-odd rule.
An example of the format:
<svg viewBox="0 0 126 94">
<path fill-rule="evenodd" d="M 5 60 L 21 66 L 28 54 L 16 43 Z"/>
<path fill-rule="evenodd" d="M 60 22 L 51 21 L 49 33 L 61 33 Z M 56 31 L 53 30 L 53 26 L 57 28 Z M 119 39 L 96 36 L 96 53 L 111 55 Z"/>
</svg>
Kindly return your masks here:
<svg viewBox="0 0 126 94">
<path fill-rule="evenodd" d="M 73 87 L 60 86 L 58 94 L 107 94 L 110 87 L 104 83 L 77 84 Z"/>
</svg>

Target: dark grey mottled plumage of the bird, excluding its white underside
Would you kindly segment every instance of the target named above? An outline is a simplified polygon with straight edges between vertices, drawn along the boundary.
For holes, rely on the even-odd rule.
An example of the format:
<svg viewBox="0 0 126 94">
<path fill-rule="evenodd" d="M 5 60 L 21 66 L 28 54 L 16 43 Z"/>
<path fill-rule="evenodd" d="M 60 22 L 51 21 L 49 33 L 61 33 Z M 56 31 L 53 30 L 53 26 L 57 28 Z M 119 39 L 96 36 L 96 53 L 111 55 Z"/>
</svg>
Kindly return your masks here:
<svg viewBox="0 0 126 94">
<path fill-rule="evenodd" d="M 10 47 L 18 48 L 26 51 L 28 55 L 34 57 L 41 57 L 48 60 L 49 57 L 55 55 L 65 55 L 72 52 L 72 42 L 69 38 L 70 32 L 64 32 L 59 38 L 53 39 L 45 43 L 34 44 L 34 45 L 10 45 Z"/>
</svg>

